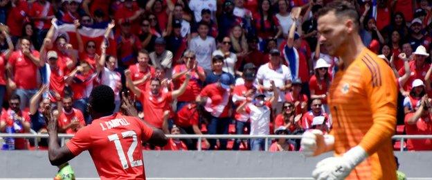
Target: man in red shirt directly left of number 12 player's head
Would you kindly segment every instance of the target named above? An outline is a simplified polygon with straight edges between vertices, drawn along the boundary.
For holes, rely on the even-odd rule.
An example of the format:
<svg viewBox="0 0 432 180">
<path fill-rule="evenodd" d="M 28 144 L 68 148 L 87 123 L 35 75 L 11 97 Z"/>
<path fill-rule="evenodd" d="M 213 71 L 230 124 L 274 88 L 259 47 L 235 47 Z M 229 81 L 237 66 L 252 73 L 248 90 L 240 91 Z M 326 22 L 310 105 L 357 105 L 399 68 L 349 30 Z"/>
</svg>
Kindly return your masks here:
<svg viewBox="0 0 432 180">
<path fill-rule="evenodd" d="M 79 129 L 85 126 L 84 116 L 80 109 L 72 107 L 72 97 L 65 96 L 62 99 L 63 109 L 58 117 L 59 132 L 66 134 L 75 134 Z"/>
</svg>

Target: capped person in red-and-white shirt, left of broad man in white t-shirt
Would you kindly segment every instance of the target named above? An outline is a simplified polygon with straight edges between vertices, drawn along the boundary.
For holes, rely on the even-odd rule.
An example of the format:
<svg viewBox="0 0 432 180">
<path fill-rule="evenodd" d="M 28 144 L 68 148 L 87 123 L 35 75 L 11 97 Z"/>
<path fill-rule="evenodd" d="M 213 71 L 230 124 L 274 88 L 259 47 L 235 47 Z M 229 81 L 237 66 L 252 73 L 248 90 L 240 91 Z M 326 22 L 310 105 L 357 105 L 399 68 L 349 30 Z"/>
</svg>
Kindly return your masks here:
<svg viewBox="0 0 432 180">
<path fill-rule="evenodd" d="M 242 78 L 244 79 L 244 84 L 235 85 L 233 89 L 233 103 L 235 106 L 242 105 L 247 98 L 253 98 L 256 93 L 256 88 L 254 87 L 255 82 L 255 72 L 246 71 L 243 73 Z M 236 134 L 244 134 L 244 129 L 250 129 L 249 114 L 246 112 L 234 114 L 235 119 L 235 132 Z M 236 139 L 233 145 L 233 150 L 239 150 L 240 143 L 242 140 Z"/>
</svg>

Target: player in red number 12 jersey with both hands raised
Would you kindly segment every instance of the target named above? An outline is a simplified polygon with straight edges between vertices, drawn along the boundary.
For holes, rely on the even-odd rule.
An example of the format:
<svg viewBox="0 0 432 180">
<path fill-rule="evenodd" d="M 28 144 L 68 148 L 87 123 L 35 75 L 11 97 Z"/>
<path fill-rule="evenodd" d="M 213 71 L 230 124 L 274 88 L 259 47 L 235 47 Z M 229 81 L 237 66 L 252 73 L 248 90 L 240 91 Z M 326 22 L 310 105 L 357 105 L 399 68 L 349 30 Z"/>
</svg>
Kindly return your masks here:
<svg viewBox="0 0 432 180">
<path fill-rule="evenodd" d="M 123 100 L 127 98 L 123 96 Z M 132 109 L 129 102 L 124 103 L 128 110 Z M 162 147 L 168 138 L 139 118 L 113 114 L 114 107 L 114 91 L 110 87 L 94 88 L 89 98 L 93 122 L 82 127 L 63 147 L 58 144 L 55 116 L 51 111 L 44 111 L 51 164 L 61 165 L 89 150 L 100 179 L 145 179 L 141 144 L 147 142 Z"/>
</svg>

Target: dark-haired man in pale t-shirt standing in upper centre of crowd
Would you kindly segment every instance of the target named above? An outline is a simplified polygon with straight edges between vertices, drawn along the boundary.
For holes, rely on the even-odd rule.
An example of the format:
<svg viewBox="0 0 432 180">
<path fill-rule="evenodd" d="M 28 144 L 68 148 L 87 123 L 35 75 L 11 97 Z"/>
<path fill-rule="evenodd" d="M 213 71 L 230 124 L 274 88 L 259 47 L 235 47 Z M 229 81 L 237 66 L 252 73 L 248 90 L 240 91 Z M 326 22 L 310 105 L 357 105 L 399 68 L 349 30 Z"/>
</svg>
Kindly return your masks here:
<svg viewBox="0 0 432 180">
<path fill-rule="evenodd" d="M 200 0 L 201 1 L 201 0 Z M 189 49 L 195 51 L 198 65 L 206 70 L 211 69 L 211 57 L 216 50 L 215 38 L 208 36 L 208 24 L 199 23 L 198 36 L 190 40 Z"/>
</svg>

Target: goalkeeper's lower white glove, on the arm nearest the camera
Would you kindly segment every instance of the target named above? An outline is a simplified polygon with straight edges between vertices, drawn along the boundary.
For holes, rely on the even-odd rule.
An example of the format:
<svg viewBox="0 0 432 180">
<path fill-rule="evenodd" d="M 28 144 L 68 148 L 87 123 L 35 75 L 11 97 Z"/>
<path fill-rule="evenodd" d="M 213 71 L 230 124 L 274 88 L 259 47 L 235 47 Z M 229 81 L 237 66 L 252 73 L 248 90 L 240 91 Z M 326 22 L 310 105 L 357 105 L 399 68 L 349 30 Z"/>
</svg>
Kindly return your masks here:
<svg viewBox="0 0 432 180">
<path fill-rule="evenodd" d="M 357 145 L 343 156 L 326 158 L 316 164 L 312 172 L 314 179 L 345 179 L 352 169 L 368 157 L 362 147 Z"/>
</svg>

